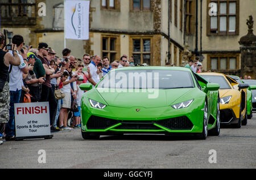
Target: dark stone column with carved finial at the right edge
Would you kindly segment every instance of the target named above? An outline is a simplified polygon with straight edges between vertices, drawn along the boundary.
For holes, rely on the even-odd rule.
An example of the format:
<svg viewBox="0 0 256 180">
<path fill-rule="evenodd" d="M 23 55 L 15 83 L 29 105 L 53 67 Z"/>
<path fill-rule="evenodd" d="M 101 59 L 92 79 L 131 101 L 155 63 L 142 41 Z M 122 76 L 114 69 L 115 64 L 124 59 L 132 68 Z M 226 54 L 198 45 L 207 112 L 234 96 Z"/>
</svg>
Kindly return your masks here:
<svg viewBox="0 0 256 180">
<path fill-rule="evenodd" d="M 248 33 L 240 38 L 241 74 L 256 79 L 256 36 L 253 34 L 253 16 L 247 20 Z"/>
</svg>

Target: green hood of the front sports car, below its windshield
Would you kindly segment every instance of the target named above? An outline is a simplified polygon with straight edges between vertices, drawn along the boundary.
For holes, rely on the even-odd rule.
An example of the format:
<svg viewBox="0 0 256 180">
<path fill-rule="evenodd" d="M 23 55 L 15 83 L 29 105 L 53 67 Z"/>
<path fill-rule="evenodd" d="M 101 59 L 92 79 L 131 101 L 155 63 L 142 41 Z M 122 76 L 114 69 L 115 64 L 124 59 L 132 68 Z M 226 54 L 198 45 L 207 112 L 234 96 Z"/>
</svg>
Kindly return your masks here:
<svg viewBox="0 0 256 180">
<path fill-rule="evenodd" d="M 101 89 L 97 88 L 97 91 L 109 106 L 158 108 L 172 105 L 177 99 L 186 96 L 192 89 L 150 89 L 150 92 L 147 89 L 138 89 L 139 92 L 134 92 L 135 90 L 132 90 L 133 92 L 129 92 L 129 90 L 127 92 L 102 92 Z M 187 100 L 184 98 L 184 101 Z M 181 102 L 183 102 L 182 99 Z"/>
</svg>

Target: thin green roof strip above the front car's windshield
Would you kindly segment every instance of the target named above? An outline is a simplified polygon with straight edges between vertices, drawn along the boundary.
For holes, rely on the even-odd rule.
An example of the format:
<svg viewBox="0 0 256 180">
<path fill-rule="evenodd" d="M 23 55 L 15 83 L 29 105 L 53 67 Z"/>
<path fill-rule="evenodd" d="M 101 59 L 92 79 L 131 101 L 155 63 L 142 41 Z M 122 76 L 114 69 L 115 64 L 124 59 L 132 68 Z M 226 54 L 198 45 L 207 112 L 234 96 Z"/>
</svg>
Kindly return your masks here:
<svg viewBox="0 0 256 180">
<path fill-rule="evenodd" d="M 122 71 L 122 70 L 176 70 L 176 71 L 187 71 L 191 72 L 189 68 L 186 67 L 168 67 L 168 66 L 138 66 L 138 67 L 122 67 L 115 68 L 114 71 Z"/>
</svg>

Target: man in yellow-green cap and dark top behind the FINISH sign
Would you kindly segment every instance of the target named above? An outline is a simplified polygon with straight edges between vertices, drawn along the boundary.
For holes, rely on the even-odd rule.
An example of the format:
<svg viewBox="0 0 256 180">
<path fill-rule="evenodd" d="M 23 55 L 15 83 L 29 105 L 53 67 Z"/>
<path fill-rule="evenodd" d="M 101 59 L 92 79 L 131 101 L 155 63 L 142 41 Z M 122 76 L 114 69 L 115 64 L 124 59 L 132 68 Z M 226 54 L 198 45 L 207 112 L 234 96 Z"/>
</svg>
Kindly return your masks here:
<svg viewBox="0 0 256 180">
<path fill-rule="evenodd" d="M 34 53 L 28 53 L 27 54 L 27 62 L 28 62 L 28 75 L 24 79 L 24 82 L 26 83 L 28 89 L 30 89 L 31 94 L 31 102 L 39 102 L 40 101 L 40 89 L 39 89 L 39 83 L 44 83 L 44 78 L 36 78 L 35 72 L 34 72 L 34 65 L 36 61 L 36 56 Z M 40 61 L 40 59 L 38 59 Z"/>
</svg>

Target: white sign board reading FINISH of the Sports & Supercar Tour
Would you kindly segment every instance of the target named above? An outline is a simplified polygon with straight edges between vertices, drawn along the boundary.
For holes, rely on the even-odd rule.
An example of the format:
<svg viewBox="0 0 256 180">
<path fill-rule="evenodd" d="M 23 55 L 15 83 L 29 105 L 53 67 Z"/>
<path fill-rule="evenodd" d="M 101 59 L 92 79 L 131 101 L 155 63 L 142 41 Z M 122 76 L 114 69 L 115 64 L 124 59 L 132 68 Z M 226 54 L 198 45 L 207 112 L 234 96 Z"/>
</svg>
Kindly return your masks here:
<svg viewBox="0 0 256 180">
<path fill-rule="evenodd" d="M 49 102 L 14 104 L 16 137 L 51 135 Z"/>
</svg>

